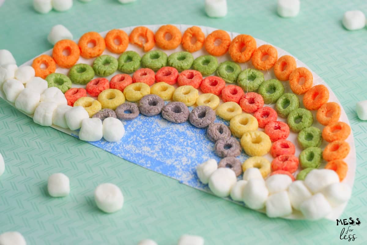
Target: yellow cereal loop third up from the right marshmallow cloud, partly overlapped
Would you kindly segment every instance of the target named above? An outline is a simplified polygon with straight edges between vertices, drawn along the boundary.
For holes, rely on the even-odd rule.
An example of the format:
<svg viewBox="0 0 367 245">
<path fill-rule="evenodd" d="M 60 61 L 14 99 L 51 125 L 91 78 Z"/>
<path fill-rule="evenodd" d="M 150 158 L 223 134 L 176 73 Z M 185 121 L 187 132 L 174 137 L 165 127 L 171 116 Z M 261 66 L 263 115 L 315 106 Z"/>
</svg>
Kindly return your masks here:
<svg viewBox="0 0 367 245">
<path fill-rule="evenodd" d="M 238 138 L 241 138 L 242 135 L 247 131 L 257 130 L 258 127 L 259 123 L 257 122 L 257 119 L 251 114 L 247 113 L 234 116 L 229 122 L 230 131 Z"/>
</svg>

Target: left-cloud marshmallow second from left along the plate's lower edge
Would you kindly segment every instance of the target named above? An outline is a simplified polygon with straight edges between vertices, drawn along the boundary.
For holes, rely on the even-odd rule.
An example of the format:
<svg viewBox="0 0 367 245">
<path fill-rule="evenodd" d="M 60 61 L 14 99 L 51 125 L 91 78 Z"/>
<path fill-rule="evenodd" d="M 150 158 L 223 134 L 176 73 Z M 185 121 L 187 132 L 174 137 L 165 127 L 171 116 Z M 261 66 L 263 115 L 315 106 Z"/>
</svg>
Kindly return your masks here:
<svg viewBox="0 0 367 245">
<path fill-rule="evenodd" d="M 40 104 L 41 95 L 32 89 L 25 88 L 15 100 L 15 107 L 25 112 L 33 114 L 37 106 Z"/>
</svg>

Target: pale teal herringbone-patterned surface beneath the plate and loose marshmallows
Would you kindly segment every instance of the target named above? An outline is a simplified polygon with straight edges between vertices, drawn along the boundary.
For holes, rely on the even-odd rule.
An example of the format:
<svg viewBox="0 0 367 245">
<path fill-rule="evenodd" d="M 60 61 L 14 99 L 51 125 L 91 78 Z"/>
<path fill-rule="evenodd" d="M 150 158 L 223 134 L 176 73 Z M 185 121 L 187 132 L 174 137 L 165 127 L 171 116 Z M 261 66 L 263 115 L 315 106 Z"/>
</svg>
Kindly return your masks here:
<svg viewBox="0 0 367 245">
<path fill-rule="evenodd" d="M 228 15 L 211 19 L 204 0 L 74 1 L 68 12 L 36 13 L 31 0 L 6 0 L 0 7 L 0 49 L 18 65 L 52 48 L 51 27 L 65 25 L 79 38 L 88 31 L 146 24 L 192 24 L 247 33 L 290 52 L 320 75 L 341 101 L 352 125 L 357 151 L 353 197 L 342 218 L 358 217 L 352 227 L 367 241 L 367 123 L 355 113 L 367 99 L 367 28 L 349 32 L 341 25 L 346 10 L 367 13 L 365 0 L 302 0 L 296 18 L 276 14 L 276 0 L 228 0 Z M 137 244 L 143 238 L 176 244 L 180 235 L 201 235 L 206 244 L 349 244 L 336 222 L 268 219 L 265 215 L 179 184 L 50 127 L 33 123 L 0 101 L 0 233 L 18 230 L 31 245 Z M 47 195 L 47 178 L 64 172 L 72 192 Z M 124 208 L 106 215 L 93 200 L 94 188 L 112 182 L 124 193 Z"/>
</svg>

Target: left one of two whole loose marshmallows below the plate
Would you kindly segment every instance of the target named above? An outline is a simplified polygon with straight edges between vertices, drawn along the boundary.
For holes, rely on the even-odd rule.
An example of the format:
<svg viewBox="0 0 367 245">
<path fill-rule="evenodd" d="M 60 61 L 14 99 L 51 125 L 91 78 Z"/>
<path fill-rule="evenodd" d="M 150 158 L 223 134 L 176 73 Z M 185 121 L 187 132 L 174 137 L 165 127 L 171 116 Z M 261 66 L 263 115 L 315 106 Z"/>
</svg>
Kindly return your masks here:
<svg viewBox="0 0 367 245">
<path fill-rule="evenodd" d="M 47 190 L 51 197 L 65 197 L 69 195 L 69 177 L 63 173 L 52 174 L 50 177 L 48 177 Z"/>
</svg>

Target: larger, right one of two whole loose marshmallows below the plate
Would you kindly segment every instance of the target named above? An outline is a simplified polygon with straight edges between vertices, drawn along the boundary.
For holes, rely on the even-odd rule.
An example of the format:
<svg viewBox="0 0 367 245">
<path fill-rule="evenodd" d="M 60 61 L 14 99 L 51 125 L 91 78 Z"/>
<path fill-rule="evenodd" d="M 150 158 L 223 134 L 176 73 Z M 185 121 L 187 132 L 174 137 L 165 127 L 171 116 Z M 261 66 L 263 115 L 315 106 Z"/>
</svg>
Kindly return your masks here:
<svg viewBox="0 0 367 245">
<path fill-rule="evenodd" d="M 98 185 L 94 191 L 94 200 L 97 207 L 106 213 L 116 212 L 124 205 L 124 196 L 120 188 L 111 183 Z"/>
</svg>

